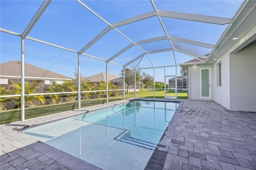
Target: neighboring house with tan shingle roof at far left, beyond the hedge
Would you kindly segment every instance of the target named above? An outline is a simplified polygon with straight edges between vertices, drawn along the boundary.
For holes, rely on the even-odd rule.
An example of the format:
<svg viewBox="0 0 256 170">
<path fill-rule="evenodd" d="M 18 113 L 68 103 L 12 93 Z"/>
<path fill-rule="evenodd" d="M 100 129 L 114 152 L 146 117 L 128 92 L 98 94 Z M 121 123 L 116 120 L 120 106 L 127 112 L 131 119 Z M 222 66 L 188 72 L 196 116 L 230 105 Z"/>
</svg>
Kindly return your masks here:
<svg viewBox="0 0 256 170">
<path fill-rule="evenodd" d="M 62 80 L 71 80 L 70 77 L 54 73 L 52 71 L 24 63 L 25 82 L 32 80 L 41 83 L 42 85 L 49 85 L 53 81 L 57 84 L 62 84 Z M 11 80 L 21 79 L 21 62 L 8 61 L 0 64 L 0 84 L 10 84 Z"/>
</svg>

